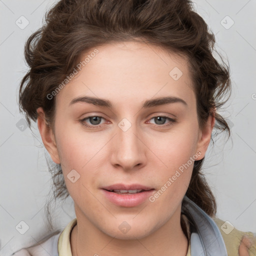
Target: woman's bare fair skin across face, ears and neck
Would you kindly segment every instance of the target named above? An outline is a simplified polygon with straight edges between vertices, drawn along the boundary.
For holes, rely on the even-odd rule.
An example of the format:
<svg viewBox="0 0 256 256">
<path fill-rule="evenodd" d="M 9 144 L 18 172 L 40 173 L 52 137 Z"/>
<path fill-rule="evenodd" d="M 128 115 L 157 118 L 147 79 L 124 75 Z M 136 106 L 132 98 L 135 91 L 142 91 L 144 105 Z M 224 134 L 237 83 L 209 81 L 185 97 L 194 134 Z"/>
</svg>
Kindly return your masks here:
<svg viewBox="0 0 256 256">
<path fill-rule="evenodd" d="M 61 163 L 66 187 L 75 205 L 77 225 L 71 232 L 72 255 L 186 255 L 187 238 L 180 226 L 181 201 L 192 164 L 154 201 L 134 207 L 117 206 L 100 187 L 140 183 L 157 191 L 179 166 L 200 151 L 204 157 L 214 125 L 209 116 L 200 129 L 187 60 L 142 42 L 116 42 L 97 48 L 99 53 L 56 95 L 55 134 L 40 107 L 38 129 L 55 163 Z M 81 56 L 84 59 L 84 56 Z M 169 72 L 182 71 L 178 80 Z M 110 100 L 114 107 L 85 102 L 69 105 L 78 96 Z M 174 96 L 181 102 L 142 108 L 145 100 Z M 102 116 L 88 128 L 79 120 Z M 167 116 L 163 127 L 153 117 Z M 131 127 L 118 123 L 126 118 Z M 87 118 L 84 123 L 93 125 Z M 95 125 L 95 124 L 94 124 Z M 72 183 L 67 174 L 80 178 Z M 126 221 L 127 233 L 118 226 Z"/>
</svg>

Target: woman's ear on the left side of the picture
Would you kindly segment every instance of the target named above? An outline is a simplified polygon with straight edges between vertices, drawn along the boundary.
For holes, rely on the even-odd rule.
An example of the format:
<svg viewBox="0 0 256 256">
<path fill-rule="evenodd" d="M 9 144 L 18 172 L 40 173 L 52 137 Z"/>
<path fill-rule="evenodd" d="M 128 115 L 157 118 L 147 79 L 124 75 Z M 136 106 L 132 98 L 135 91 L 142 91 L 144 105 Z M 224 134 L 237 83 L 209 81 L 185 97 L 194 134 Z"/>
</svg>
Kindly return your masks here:
<svg viewBox="0 0 256 256">
<path fill-rule="evenodd" d="M 49 124 L 45 120 L 45 115 L 42 107 L 38 107 L 36 111 L 37 111 L 37 126 L 42 138 L 42 142 L 46 150 L 50 154 L 52 161 L 55 163 L 60 163 L 52 128 L 49 126 Z"/>
</svg>

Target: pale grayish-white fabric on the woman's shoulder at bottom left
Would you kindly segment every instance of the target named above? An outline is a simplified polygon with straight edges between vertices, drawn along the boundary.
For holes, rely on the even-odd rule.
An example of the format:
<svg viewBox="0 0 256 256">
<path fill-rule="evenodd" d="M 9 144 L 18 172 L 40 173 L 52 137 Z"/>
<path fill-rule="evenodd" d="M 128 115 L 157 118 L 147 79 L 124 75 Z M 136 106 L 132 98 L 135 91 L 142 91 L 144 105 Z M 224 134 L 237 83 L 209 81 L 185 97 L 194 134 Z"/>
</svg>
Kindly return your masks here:
<svg viewBox="0 0 256 256">
<path fill-rule="evenodd" d="M 51 234 L 50 237 L 44 239 L 44 241 L 38 242 L 36 245 L 22 248 L 11 256 L 58 256 L 57 243 L 60 232 L 57 234 Z"/>
</svg>

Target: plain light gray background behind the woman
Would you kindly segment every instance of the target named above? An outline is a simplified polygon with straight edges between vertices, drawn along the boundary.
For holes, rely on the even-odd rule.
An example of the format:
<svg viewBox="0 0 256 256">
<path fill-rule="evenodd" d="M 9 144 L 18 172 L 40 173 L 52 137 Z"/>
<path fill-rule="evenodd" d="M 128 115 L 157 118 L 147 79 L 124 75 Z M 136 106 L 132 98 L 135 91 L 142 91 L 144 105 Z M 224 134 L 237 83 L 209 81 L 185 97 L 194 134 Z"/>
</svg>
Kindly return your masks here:
<svg viewBox="0 0 256 256">
<path fill-rule="evenodd" d="M 33 135 L 22 126 L 17 88 L 26 71 L 24 42 L 39 28 L 46 8 L 53 3 L 53 0 L 0 0 L 1 255 L 10 255 L 47 234 L 43 208 L 51 177 L 44 157 L 46 151 L 38 131 L 34 129 Z M 228 117 L 232 139 L 224 144 L 224 138 L 219 137 L 214 147 L 209 147 L 204 172 L 217 199 L 217 216 L 238 229 L 255 232 L 256 1 L 196 0 L 195 8 L 215 33 L 216 49 L 228 58 L 233 85 L 231 100 L 223 112 Z M 22 27 L 26 20 L 29 24 Z M 75 216 L 70 205 L 70 199 L 57 205 L 55 229 L 63 229 Z M 29 226 L 24 234 L 15 228 L 22 225 L 22 220 Z"/>
</svg>

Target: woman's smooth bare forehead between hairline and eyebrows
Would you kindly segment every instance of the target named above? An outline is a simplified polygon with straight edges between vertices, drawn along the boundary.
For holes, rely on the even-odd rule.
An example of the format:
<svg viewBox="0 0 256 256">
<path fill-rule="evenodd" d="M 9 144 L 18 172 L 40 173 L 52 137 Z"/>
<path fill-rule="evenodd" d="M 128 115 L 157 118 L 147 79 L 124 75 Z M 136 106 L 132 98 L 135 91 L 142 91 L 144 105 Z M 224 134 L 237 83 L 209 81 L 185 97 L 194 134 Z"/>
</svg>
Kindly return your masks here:
<svg viewBox="0 0 256 256">
<path fill-rule="evenodd" d="M 108 43 L 96 49 L 96 54 L 88 56 L 92 48 L 80 56 L 80 63 L 87 57 L 86 64 L 58 93 L 58 102 L 68 104 L 74 97 L 88 95 L 134 104 L 134 99 L 140 102 L 168 94 L 192 103 L 186 57 L 135 41 Z"/>
</svg>

